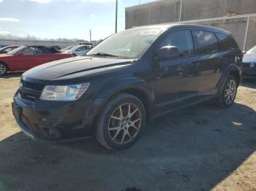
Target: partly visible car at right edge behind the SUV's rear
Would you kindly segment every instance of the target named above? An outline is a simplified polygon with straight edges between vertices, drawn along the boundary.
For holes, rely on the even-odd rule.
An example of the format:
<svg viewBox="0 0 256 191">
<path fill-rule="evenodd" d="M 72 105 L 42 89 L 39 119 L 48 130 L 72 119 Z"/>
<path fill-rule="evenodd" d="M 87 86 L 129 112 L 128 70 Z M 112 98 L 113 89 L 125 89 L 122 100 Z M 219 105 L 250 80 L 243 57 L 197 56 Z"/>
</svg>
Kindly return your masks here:
<svg viewBox="0 0 256 191">
<path fill-rule="evenodd" d="M 242 75 L 244 77 L 256 77 L 256 46 L 244 54 Z"/>
</svg>

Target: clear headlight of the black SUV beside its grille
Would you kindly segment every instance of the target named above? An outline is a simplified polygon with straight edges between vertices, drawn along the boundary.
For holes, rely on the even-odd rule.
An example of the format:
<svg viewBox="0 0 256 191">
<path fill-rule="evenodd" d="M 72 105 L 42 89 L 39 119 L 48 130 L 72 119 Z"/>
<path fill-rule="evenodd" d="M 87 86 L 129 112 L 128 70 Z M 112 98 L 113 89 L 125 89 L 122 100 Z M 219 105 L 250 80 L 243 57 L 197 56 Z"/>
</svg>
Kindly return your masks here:
<svg viewBox="0 0 256 191">
<path fill-rule="evenodd" d="M 88 89 L 90 83 L 80 85 L 46 85 L 40 96 L 41 100 L 74 101 Z"/>
</svg>

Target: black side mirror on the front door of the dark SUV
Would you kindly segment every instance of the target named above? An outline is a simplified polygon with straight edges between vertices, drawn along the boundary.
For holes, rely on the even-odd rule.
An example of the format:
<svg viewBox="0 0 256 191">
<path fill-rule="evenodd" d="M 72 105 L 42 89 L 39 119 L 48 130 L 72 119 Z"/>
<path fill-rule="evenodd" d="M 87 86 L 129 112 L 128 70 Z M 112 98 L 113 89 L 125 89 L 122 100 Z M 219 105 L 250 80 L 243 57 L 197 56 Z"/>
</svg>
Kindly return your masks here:
<svg viewBox="0 0 256 191">
<path fill-rule="evenodd" d="M 165 46 L 160 48 L 158 52 L 158 60 L 165 60 L 165 59 L 178 58 L 178 57 L 179 57 L 178 47 Z"/>
</svg>

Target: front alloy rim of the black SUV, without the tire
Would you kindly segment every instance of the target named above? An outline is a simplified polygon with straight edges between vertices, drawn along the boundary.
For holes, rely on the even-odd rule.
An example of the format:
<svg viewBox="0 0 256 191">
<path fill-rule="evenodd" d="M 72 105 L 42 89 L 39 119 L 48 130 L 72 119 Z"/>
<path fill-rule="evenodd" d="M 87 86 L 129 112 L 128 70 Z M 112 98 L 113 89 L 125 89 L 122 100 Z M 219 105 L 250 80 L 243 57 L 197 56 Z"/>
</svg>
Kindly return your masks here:
<svg viewBox="0 0 256 191">
<path fill-rule="evenodd" d="M 141 112 L 131 103 L 118 106 L 110 117 L 108 135 L 116 144 L 127 144 L 138 135 L 141 126 Z"/>
</svg>

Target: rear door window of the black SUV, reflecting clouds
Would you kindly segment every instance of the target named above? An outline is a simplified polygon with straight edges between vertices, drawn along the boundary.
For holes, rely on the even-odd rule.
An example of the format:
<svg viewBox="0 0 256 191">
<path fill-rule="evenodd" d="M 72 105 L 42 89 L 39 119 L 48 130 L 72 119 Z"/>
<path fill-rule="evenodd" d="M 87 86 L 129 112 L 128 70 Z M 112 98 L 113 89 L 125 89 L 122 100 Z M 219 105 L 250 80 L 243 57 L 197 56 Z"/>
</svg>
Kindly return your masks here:
<svg viewBox="0 0 256 191">
<path fill-rule="evenodd" d="M 212 54 L 219 51 L 219 42 L 214 33 L 209 31 L 195 31 L 197 53 Z"/>
</svg>

